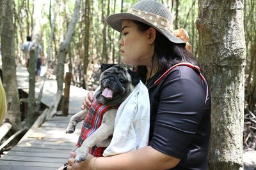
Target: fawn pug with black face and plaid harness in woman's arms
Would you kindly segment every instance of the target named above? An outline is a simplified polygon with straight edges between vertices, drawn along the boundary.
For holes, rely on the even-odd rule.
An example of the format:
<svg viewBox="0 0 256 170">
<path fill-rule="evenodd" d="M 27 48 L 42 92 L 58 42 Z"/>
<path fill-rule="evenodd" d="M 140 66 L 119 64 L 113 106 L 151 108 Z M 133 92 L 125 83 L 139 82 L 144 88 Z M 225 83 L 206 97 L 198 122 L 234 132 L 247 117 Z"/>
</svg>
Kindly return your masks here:
<svg viewBox="0 0 256 170">
<path fill-rule="evenodd" d="M 91 109 L 92 106 L 88 110 L 80 111 L 70 118 L 70 122 L 66 130 L 66 133 L 74 132 L 77 123 L 81 122 L 82 120 L 84 120 L 83 127 L 86 125 L 86 128 L 93 127 L 95 125 L 88 125 L 92 122 L 87 122 L 87 120 L 93 120 L 93 118 L 97 117 L 99 114 L 103 115 L 101 124 L 98 125 L 98 128 L 93 132 L 88 132 L 86 137 L 84 137 L 84 133 L 86 133 L 84 131 L 86 129 L 83 130 L 82 127 L 81 135 L 79 137 L 82 144 L 80 147 L 76 146 L 74 150 L 72 150 L 72 152 L 76 153 L 75 159 L 77 162 L 85 160 L 93 146 L 107 147 L 109 145 L 111 141 L 109 137 L 113 135 L 114 131 L 117 108 L 129 96 L 129 94 L 131 94 L 134 87 L 140 82 L 140 78 L 136 72 L 125 69 L 124 67 L 116 64 L 102 64 L 101 71 L 100 89 L 95 92 L 93 99 L 95 102 L 97 101 L 97 103 L 101 104 L 102 106 L 109 107 L 110 109 L 103 114 L 92 113 L 93 111 L 96 112 L 95 108 Z M 90 115 L 88 112 L 90 112 Z"/>
</svg>

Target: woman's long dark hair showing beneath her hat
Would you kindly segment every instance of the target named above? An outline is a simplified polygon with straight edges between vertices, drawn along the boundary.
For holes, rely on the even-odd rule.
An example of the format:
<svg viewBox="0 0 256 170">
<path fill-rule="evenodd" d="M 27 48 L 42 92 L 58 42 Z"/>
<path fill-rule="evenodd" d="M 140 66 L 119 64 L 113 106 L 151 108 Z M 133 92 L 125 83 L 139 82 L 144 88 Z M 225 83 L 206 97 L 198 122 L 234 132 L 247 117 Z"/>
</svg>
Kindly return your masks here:
<svg viewBox="0 0 256 170">
<path fill-rule="evenodd" d="M 138 22 L 136 20 L 132 20 L 132 22 L 137 25 L 140 31 L 147 31 L 151 27 L 150 25 Z M 156 53 L 158 58 L 159 70 L 165 71 L 179 62 L 190 62 L 191 64 L 198 66 L 198 62 L 196 61 L 195 57 L 192 53 L 188 52 L 186 48 L 184 48 L 184 44 L 172 43 L 159 31 L 156 33 L 154 53 Z M 139 74 L 143 69 L 145 70 L 145 67 L 138 67 Z"/>
</svg>

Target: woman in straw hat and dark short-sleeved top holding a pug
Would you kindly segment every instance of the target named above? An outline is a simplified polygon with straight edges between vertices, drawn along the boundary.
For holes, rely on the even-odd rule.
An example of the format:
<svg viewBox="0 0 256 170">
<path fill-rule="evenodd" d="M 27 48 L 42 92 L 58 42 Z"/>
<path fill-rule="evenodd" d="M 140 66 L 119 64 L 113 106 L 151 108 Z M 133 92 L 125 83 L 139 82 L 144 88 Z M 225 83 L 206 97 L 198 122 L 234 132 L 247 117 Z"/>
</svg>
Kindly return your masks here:
<svg viewBox="0 0 256 170">
<path fill-rule="evenodd" d="M 211 99 L 186 43 L 173 35 L 171 13 L 163 4 L 145 0 L 127 13 L 110 15 L 106 22 L 123 33 L 122 62 L 136 66 L 148 87 L 150 144 L 113 157 L 90 156 L 81 163 L 69 159 L 67 169 L 207 169 Z M 162 76 L 180 62 L 192 68 L 177 66 Z"/>
</svg>

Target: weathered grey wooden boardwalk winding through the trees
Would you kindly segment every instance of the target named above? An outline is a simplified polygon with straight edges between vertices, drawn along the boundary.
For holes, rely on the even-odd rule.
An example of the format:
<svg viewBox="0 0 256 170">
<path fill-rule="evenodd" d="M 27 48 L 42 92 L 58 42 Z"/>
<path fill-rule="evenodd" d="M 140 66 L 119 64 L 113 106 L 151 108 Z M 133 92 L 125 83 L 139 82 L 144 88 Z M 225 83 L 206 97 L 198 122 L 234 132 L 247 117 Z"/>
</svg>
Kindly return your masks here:
<svg viewBox="0 0 256 170">
<path fill-rule="evenodd" d="M 19 89 L 28 90 L 28 73 L 26 68 L 17 67 Z M 45 81 L 42 103 L 50 106 L 56 94 L 56 81 Z M 36 83 L 38 94 L 40 82 Z M 0 158 L 0 170 L 26 169 L 50 170 L 58 169 L 67 162 L 69 153 L 76 145 L 81 123 L 77 125 L 74 134 L 65 134 L 70 117 L 80 110 L 86 90 L 70 87 L 70 108 L 68 117 L 55 116 L 44 122 L 28 138 L 23 139 L 10 152 Z"/>
</svg>

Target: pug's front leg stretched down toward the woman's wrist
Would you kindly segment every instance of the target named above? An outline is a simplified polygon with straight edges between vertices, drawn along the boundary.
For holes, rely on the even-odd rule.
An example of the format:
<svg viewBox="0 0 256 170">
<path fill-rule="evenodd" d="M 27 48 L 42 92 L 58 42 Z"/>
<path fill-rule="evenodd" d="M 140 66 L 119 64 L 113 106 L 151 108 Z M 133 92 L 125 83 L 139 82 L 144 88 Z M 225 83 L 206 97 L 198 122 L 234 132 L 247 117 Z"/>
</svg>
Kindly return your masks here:
<svg viewBox="0 0 256 170">
<path fill-rule="evenodd" d="M 97 145 L 100 141 L 108 139 L 113 134 L 115 123 L 116 109 L 109 110 L 102 118 L 102 124 L 93 132 L 88 138 L 86 138 L 79 149 L 77 149 L 76 161 L 81 162 L 86 159 L 90 149 Z"/>
</svg>

